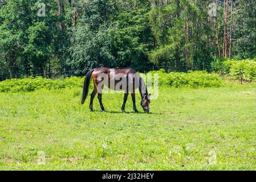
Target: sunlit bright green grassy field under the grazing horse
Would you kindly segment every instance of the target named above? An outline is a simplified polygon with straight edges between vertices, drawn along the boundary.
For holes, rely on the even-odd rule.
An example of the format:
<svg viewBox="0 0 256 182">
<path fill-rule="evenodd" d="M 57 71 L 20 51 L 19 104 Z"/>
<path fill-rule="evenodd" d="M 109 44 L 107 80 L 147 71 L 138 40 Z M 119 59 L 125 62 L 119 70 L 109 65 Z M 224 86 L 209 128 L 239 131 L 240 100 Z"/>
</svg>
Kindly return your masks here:
<svg viewBox="0 0 256 182">
<path fill-rule="evenodd" d="M 0 169 L 256 169 L 256 86 L 160 88 L 151 114 L 82 89 L 0 93 Z M 137 96 L 137 107 L 139 96 Z"/>
</svg>

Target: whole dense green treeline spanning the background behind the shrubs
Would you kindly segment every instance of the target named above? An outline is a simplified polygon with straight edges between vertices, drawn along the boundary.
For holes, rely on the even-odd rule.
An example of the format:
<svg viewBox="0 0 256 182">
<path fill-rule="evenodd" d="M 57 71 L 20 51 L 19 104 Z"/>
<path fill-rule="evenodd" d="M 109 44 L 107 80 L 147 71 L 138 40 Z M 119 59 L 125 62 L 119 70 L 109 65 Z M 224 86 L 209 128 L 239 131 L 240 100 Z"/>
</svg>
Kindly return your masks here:
<svg viewBox="0 0 256 182">
<path fill-rule="evenodd" d="M 255 56 L 254 0 L 0 0 L 0 80 Z"/>
</svg>

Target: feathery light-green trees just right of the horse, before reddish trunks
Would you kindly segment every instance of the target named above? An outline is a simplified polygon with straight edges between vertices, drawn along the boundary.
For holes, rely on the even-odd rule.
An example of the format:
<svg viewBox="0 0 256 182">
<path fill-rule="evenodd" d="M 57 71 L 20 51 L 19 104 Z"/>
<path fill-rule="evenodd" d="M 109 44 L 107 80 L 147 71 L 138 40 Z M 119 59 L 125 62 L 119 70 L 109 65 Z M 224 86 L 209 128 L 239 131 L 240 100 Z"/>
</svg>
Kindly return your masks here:
<svg viewBox="0 0 256 182">
<path fill-rule="evenodd" d="M 202 8 L 209 3 L 168 1 L 164 6 L 153 7 L 149 12 L 149 22 L 155 49 L 149 52 L 149 61 L 175 71 L 185 70 L 185 67 L 201 69 L 202 63 L 209 63 L 214 47 L 205 47 L 211 25 L 205 22 L 208 10 Z"/>
</svg>

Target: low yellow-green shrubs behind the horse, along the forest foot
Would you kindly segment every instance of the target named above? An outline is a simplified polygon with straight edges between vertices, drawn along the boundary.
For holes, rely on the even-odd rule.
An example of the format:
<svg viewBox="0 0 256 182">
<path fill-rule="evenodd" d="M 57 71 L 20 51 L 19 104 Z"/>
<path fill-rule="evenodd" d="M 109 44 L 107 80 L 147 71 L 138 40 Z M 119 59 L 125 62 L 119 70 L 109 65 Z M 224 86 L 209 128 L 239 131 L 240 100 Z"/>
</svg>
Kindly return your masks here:
<svg viewBox="0 0 256 182">
<path fill-rule="evenodd" d="M 217 74 L 207 72 L 189 72 L 189 73 L 165 73 L 160 71 L 149 72 L 159 74 L 159 85 L 167 86 L 221 86 L 222 79 Z M 0 82 L 0 92 L 32 92 L 38 89 L 63 89 L 83 86 L 84 78 L 70 77 L 58 80 L 51 80 L 43 77 L 29 77 L 24 79 L 11 79 Z"/>
</svg>

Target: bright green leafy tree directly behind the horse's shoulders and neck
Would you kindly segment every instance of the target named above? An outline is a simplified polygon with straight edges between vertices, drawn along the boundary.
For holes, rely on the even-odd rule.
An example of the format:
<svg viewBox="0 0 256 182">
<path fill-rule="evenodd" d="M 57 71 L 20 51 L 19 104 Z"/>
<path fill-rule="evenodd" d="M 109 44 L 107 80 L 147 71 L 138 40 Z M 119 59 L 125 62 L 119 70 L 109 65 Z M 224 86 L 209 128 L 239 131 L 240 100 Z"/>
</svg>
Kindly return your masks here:
<svg viewBox="0 0 256 182">
<path fill-rule="evenodd" d="M 116 65 L 148 71 L 148 52 L 153 48 L 153 35 L 148 20 L 148 5 L 124 9 L 116 16 L 110 35 Z"/>
</svg>

